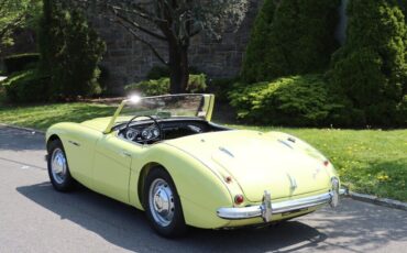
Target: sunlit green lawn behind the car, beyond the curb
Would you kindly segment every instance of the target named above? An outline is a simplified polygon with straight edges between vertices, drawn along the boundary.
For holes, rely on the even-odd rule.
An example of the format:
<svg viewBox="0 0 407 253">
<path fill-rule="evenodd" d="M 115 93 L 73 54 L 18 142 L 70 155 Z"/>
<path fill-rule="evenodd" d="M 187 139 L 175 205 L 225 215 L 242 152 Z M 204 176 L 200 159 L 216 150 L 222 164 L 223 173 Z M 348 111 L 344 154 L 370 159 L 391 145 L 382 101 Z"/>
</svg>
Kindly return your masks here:
<svg viewBox="0 0 407 253">
<path fill-rule="evenodd" d="M 46 130 L 61 121 L 81 122 L 111 116 L 114 107 L 59 103 L 1 107 L 0 122 Z M 301 138 L 336 165 L 344 185 L 358 193 L 407 201 L 407 130 L 276 129 L 231 125 L 260 131 L 284 131 Z"/>
</svg>

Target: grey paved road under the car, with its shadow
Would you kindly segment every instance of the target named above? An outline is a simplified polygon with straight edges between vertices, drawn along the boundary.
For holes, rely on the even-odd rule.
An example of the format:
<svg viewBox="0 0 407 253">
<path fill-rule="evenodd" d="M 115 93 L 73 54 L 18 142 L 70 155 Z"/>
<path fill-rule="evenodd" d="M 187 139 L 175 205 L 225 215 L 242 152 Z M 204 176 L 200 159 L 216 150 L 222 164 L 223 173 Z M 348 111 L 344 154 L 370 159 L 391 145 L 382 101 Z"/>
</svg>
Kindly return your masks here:
<svg viewBox="0 0 407 253">
<path fill-rule="evenodd" d="M 52 189 L 43 135 L 0 127 L 0 252 L 407 252 L 407 212 L 344 199 L 267 229 L 157 237 L 144 213 L 85 188 Z"/>
</svg>

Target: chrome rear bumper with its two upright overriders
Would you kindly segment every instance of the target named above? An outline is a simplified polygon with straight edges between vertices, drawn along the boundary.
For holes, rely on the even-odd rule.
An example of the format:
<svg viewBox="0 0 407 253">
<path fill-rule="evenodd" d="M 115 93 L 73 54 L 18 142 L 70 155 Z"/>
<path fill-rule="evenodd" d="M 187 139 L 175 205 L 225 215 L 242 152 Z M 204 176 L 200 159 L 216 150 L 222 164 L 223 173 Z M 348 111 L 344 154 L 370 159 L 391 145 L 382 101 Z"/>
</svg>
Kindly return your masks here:
<svg viewBox="0 0 407 253">
<path fill-rule="evenodd" d="M 250 206 L 243 208 L 220 208 L 218 217 L 227 220 L 241 220 L 262 217 L 264 222 L 270 222 L 273 215 L 300 211 L 302 209 L 312 208 L 326 204 L 330 204 L 332 208 L 339 204 L 339 195 L 344 194 L 344 190 L 339 189 L 339 183 L 332 179 L 332 190 L 326 194 L 286 200 L 280 202 L 272 202 L 271 194 L 266 190 L 263 196 L 263 204 L 260 206 Z"/>
</svg>

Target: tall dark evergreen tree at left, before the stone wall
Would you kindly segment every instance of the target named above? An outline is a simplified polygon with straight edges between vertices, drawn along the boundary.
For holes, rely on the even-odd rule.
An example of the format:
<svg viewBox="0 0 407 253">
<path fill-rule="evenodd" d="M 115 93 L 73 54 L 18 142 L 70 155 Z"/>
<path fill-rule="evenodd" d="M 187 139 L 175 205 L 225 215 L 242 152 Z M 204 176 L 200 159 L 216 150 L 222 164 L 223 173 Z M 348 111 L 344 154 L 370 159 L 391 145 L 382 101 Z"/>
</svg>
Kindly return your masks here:
<svg viewBox="0 0 407 253">
<path fill-rule="evenodd" d="M 44 0 L 40 29 L 41 69 L 51 77 L 53 99 L 91 96 L 100 92 L 97 68 L 105 43 L 79 10 L 65 10 Z"/>
</svg>

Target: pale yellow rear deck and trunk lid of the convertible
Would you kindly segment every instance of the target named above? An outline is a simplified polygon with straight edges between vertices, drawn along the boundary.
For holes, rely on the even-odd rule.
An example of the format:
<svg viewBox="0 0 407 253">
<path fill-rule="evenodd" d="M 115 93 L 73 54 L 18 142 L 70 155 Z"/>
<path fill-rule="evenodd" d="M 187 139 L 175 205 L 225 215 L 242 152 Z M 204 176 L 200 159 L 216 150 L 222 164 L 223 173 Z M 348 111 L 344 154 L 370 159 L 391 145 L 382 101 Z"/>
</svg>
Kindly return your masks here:
<svg viewBox="0 0 407 253">
<path fill-rule="evenodd" d="M 261 201 L 264 190 L 278 199 L 330 187 L 330 176 L 323 164 L 326 158 L 285 133 L 235 130 L 166 143 L 229 174 L 250 201 Z"/>
</svg>

